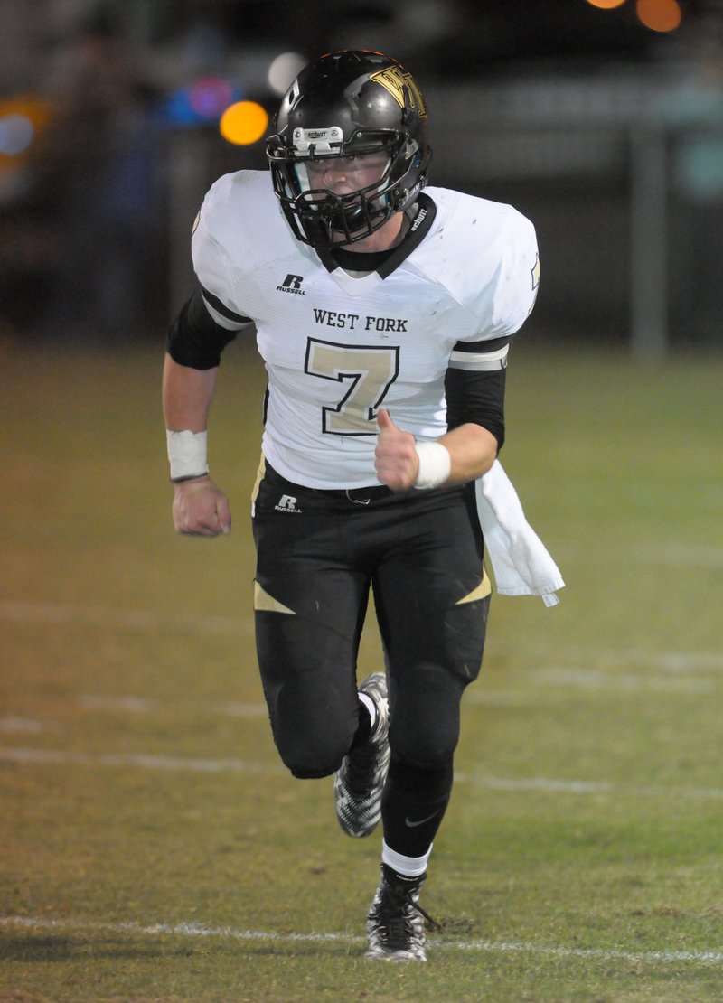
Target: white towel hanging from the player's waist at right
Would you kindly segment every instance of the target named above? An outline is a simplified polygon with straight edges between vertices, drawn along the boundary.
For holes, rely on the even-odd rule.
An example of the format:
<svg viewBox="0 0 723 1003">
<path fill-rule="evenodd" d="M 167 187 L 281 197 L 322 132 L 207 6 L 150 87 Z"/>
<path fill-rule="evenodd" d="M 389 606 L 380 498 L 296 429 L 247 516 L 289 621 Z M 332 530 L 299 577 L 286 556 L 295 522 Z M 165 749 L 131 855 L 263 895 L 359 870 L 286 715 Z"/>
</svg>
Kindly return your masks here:
<svg viewBox="0 0 723 1003">
<path fill-rule="evenodd" d="M 507 474 L 495 459 L 475 484 L 479 525 L 500 596 L 541 596 L 560 602 L 565 587 L 560 570 L 529 526 Z"/>
</svg>

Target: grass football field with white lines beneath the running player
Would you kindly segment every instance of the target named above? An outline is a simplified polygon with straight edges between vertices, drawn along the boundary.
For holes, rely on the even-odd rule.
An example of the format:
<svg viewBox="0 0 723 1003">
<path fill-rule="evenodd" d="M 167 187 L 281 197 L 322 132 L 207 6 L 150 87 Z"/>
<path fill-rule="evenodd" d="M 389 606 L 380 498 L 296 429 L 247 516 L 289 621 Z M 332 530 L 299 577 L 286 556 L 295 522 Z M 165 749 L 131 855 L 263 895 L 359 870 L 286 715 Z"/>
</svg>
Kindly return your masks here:
<svg viewBox="0 0 723 1003">
<path fill-rule="evenodd" d="M 493 601 L 441 930 L 389 966 L 379 839 L 285 773 L 262 706 L 261 367 L 228 350 L 212 425 L 234 533 L 188 539 L 160 354 L 0 345 L 0 1000 L 722 999 L 723 360 L 520 338 L 502 459 L 568 587 Z"/>
</svg>

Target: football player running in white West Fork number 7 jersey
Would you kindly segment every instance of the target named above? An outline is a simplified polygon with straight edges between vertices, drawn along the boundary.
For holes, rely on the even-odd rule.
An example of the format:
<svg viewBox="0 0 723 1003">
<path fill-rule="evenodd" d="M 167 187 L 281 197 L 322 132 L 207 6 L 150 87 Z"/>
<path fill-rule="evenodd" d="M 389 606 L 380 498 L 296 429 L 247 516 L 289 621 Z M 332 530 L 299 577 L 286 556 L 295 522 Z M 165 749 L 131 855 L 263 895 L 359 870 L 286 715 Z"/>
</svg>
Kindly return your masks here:
<svg viewBox="0 0 723 1003">
<path fill-rule="evenodd" d="M 382 822 L 367 957 L 425 961 L 419 893 L 490 595 L 474 481 L 504 439 L 534 230 L 509 206 L 426 187 L 424 98 L 380 53 L 307 66 L 267 152 L 270 172 L 216 182 L 195 227 L 200 285 L 164 366 L 173 521 L 231 529 L 207 419 L 223 348 L 254 332 L 268 373 L 256 637 L 274 740 L 294 776 L 334 775 L 345 832 Z M 357 686 L 370 594 L 385 666 Z"/>
</svg>

